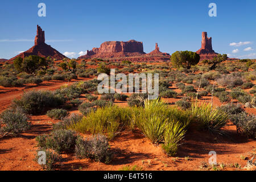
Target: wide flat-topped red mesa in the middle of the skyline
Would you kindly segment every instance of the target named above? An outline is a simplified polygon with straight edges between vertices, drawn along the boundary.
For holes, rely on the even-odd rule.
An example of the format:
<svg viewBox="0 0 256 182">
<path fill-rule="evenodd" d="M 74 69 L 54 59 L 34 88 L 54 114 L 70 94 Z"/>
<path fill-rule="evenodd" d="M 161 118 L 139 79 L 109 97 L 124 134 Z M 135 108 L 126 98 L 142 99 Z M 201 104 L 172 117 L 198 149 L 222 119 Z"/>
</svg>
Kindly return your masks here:
<svg viewBox="0 0 256 182">
<path fill-rule="evenodd" d="M 113 58 L 144 55 L 143 43 L 135 40 L 128 42 L 110 41 L 101 44 L 100 48 L 93 48 L 87 54 L 79 57 L 84 58 Z"/>
</svg>

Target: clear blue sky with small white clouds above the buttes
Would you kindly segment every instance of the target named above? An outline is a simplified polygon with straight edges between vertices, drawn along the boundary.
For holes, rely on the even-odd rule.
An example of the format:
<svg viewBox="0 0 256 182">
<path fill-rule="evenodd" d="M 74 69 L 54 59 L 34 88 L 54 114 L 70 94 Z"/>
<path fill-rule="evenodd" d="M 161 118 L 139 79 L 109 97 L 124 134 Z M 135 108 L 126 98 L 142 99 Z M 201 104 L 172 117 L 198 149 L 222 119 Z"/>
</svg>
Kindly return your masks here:
<svg viewBox="0 0 256 182">
<path fill-rule="evenodd" d="M 46 17 L 38 4 L 46 4 Z M 209 3 L 217 17 L 210 17 Z M 144 52 L 197 51 L 201 32 L 213 38 L 213 49 L 230 57 L 256 58 L 256 1 L 61 1 L 1 0 L 0 58 L 10 59 L 34 46 L 36 24 L 47 44 L 78 57 L 105 41 L 143 42 Z"/>
</svg>

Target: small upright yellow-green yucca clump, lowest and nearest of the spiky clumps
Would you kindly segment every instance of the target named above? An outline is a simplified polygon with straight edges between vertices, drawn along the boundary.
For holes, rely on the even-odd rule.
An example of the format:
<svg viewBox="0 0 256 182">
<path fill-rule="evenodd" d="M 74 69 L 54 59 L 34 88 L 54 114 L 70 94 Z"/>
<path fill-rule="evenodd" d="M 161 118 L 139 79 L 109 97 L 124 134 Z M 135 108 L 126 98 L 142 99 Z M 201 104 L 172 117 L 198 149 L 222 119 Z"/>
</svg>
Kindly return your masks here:
<svg viewBox="0 0 256 182">
<path fill-rule="evenodd" d="M 164 131 L 164 144 L 162 148 L 170 156 L 177 154 L 177 147 L 181 144 L 181 140 L 185 137 L 185 125 L 175 120 L 168 123 Z"/>
</svg>

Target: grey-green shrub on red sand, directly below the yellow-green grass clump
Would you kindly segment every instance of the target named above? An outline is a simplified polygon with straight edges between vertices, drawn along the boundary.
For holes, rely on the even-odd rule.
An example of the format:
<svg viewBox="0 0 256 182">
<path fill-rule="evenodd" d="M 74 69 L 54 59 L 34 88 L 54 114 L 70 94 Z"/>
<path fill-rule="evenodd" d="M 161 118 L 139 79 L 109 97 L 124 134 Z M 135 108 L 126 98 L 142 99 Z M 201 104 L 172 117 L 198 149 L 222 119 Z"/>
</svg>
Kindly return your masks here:
<svg viewBox="0 0 256 182">
<path fill-rule="evenodd" d="M 109 141 L 104 135 L 96 135 L 89 140 L 79 137 L 76 140 L 75 154 L 79 159 L 89 158 L 109 163 L 112 158 L 109 148 Z"/>
</svg>

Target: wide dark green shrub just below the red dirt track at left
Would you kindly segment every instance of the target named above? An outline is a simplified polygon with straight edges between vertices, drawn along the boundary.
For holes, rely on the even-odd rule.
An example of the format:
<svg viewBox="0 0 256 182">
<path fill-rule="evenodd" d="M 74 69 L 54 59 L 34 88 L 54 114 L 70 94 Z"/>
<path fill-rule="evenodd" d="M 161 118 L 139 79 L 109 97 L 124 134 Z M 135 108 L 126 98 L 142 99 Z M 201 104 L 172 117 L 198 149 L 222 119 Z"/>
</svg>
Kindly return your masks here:
<svg viewBox="0 0 256 182">
<path fill-rule="evenodd" d="M 50 91 L 25 92 L 20 100 L 14 100 L 14 105 L 21 107 L 28 114 L 39 114 L 49 108 L 58 107 L 63 99 Z"/>
</svg>

